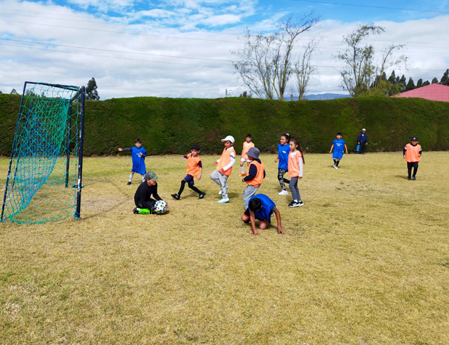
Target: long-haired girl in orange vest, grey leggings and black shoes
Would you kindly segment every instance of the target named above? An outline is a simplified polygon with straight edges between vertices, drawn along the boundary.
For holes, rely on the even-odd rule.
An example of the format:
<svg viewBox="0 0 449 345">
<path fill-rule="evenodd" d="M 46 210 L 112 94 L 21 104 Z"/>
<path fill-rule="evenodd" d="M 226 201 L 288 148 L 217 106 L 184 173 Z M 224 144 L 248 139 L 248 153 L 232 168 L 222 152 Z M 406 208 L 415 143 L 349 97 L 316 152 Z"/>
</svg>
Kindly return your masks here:
<svg viewBox="0 0 449 345">
<path fill-rule="evenodd" d="M 302 166 L 304 165 L 304 155 L 302 154 L 301 145 L 296 138 L 290 138 L 289 153 L 289 187 L 293 201 L 289 203 L 289 207 L 298 207 L 304 205 L 299 195 L 298 180 L 302 178 Z"/>
</svg>

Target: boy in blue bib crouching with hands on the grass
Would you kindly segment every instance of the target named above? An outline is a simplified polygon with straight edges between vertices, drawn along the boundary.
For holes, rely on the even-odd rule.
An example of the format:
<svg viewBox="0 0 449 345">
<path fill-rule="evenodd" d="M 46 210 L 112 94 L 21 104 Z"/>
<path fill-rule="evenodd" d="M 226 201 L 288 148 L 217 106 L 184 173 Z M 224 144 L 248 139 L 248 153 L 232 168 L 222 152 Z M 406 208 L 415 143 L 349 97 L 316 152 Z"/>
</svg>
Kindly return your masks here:
<svg viewBox="0 0 449 345">
<path fill-rule="evenodd" d="M 242 215 L 243 222 L 251 224 L 252 235 L 260 235 L 256 230 L 256 220 L 259 220 L 259 229 L 265 230 L 272 221 L 272 214 L 276 215 L 277 232 L 284 234 L 281 224 L 281 213 L 276 208 L 276 204 L 267 195 L 257 194 L 249 199 L 249 207 Z"/>
</svg>

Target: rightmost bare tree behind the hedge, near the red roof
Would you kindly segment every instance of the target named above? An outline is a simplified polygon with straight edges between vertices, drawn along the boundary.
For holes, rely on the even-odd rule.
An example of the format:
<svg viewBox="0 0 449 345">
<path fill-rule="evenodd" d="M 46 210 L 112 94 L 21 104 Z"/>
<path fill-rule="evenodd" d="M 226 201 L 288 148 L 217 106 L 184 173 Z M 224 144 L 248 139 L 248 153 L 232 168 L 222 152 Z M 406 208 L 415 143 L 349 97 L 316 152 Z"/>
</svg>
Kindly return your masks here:
<svg viewBox="0 0 449 345">
<path fill-rule="evenodd" d="M 382 26 L 376 26 L 373 23 L 359 25 L 355 31 L 344 38 L 344 43 L 348 46 L 346 51 L 336 55 L 336 58 L 345 64 L 340 71 L 341 87 L 353 97 L 376 93 L 378 91 L 376 88 L 370 90 L 371 85 L 381 85 L 381 83 L 374 83 L 376 76 L 382 76 L 387 68 L 407 61 L 405 56 L 393 58 L 393 53 L 404 47 L 402 44 L 394 43 L 384 48 L 380 61 L 374 61 L 376 52 L 373 45 L 363 44 L 363 41 L 371 35 L 381 34 L 384 31 Z M 385 82 L 388 83 L 388 81 Z"/>
</svg>

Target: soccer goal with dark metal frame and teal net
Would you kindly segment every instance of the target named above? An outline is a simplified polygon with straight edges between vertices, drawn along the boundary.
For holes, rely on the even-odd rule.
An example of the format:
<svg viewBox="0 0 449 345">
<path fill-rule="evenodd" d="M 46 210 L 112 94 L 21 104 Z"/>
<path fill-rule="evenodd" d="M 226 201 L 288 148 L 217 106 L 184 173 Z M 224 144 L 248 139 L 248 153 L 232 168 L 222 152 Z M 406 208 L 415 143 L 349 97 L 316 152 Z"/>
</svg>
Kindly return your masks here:
<svg viewBox="0 0 449 345">
<path fill-rule="evenodd" d="M 26 81 L 1 222 L 80 218 L 85 88 Z"/>
</svg>

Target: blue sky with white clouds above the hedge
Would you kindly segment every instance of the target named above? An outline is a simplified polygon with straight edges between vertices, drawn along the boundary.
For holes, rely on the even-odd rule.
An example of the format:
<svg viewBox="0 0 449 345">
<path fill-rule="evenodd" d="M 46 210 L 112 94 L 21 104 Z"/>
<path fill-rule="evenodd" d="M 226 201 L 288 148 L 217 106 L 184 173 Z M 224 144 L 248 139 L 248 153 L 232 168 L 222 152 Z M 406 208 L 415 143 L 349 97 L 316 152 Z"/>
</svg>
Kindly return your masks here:
<svg viewBox="0 0 449 345">
<path fill-rule="evenodd" d="M 449 0 L 0 0 L 0 91 L 25 81 L 87 85 L 101 100 L 156 96 L 222 98 L 248 90 L 232 67 L 244 31 L 269 34 L 286 16 L 321 21 L 296 43 L 319 38 L 307 93 L 344 93 L 335 56 L 360 24 L 383 26 L 368 43 L 404 44 L 396 76 L 431 81 L 449 68 Z M 389 76 L 391 70 L 387 71 Z"/>
</svg>

